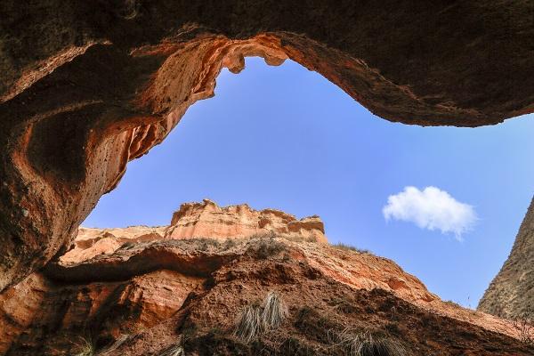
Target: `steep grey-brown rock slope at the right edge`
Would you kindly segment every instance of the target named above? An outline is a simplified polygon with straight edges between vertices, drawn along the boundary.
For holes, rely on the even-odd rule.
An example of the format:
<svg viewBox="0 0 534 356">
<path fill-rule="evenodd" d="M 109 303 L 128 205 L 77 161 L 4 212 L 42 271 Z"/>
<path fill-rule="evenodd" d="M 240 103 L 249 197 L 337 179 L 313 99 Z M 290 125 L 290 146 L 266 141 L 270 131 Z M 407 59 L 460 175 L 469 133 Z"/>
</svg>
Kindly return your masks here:
<svg viewBox="0 0 534 356">
<path fill-rule="evenodd" d="M 478 309 L 502 318 L 534 320 L 534 198 L 505 264 Z"/>
</svg>

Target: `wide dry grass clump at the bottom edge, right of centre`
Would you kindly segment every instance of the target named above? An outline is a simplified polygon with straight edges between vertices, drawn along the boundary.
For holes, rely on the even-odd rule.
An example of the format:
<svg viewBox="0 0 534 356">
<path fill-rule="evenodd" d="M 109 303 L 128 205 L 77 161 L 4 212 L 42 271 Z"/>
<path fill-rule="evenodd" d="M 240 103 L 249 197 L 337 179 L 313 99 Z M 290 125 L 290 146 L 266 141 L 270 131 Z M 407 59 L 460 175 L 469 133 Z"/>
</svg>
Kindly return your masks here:
<svg viewBox="0 0 534 356">
<path fill-rule="evenodd" d="M 404 347 L 392 337 L 369 331 L 355 333 L 345 328 L 336 334 L 333 341 L 351 356 L 408 356 Z"/>
</svg>

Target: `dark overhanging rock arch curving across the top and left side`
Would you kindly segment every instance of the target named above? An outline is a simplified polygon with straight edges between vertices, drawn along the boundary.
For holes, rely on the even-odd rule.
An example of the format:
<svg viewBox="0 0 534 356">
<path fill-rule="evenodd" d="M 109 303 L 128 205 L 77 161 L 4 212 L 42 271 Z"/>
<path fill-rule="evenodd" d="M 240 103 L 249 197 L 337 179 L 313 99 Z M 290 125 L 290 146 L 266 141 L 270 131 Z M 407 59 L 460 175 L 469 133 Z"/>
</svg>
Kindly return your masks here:
<svg viewBox="0 0 534 356">
<path fill-rule="evenodd" d="M 0 2 L 0 290 L 63 255 L 127 162 L 244 56 L 315 70 L 380 117 L 534 110 L 530 2 Z"/>
</svg>

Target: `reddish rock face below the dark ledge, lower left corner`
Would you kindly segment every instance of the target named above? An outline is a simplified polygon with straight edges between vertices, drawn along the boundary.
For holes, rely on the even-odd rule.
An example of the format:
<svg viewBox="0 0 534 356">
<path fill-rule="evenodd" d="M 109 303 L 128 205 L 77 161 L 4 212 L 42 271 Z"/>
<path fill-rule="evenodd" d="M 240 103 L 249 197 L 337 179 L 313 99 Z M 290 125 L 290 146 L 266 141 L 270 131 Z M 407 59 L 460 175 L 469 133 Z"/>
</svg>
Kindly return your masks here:
<svg viewBox="0 0 534 356">
<path fill-rule="evenodd" d="M 57 284 L 34 273 L 18 285 L 24 290 L 0 298 L 0 354 L 70 355 L 93 328 L 105 344 L 154 327 L 203 280 L 160 270 L 123 281 Z"/>
</svg>

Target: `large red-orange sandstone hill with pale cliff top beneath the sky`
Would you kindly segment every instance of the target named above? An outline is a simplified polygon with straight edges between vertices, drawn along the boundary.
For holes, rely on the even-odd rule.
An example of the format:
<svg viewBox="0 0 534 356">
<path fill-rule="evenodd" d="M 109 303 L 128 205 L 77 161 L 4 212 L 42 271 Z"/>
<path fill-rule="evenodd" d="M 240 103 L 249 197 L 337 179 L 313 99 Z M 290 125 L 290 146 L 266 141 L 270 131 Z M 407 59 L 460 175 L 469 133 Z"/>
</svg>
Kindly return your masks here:
<svg viewBox="0 0 534 356">
<path fill-rule="evenodd" d="M 275 330 L 245 343 L 239 312 L 276 291 Z M 0 295 L 0 354 L 324 354 L 347 327 L 409 355 L 530 355 L 512 324 L 443 302 L 383 257 L 330 246 L 318 216 L 183 204 L 168 226 L 80 228 L 72 249 Z M 263 353 L 262 353 L 263 352 Z"/>
</svg>

